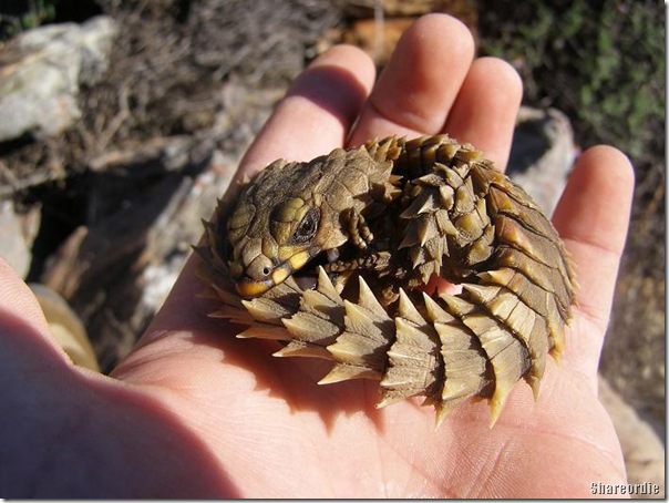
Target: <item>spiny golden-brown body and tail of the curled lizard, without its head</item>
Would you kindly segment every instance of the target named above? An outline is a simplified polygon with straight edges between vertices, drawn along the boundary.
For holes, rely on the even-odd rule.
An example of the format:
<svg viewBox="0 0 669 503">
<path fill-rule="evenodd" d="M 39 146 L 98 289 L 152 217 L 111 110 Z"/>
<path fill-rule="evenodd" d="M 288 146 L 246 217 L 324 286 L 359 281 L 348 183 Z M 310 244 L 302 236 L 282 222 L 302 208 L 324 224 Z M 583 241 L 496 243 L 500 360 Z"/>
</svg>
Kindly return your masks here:
<svg viewBox="0 0 669 503">
<path fill-rule="evenodd" d="M 559 358 L 564 349 L 576 281 L 563 243 L 529 196 L 474 147 L 446 135 L 411 141 L 392 136 L 347 152 L 336 150 L 312 163 L 316 167 L 277 162 L 267 170 L 289 173 L 291 184 L 312 168 L 333 170 L 338 182 L 323 191 L 338 192 L 313 194 L 306 186 L 309 201 L 327 202 L 319 208 L 321 222 L 332 216 L 328 208 L 342 207 L 340 199 L 354 201 L 356 222 L 370 226 L 360 228 L 361 235 L 374 236 L 366 250 L 390 252 L 385 269 L 358 269 L 374 263 L 363 256 L 339 275 L 307 265 L 307 273 L 318 278 L 315 289 L 302 289 L 288 278 L 257 298 L 241 300 L 228 263 L 235 239 L 243 238 L 245 214 L 233 213 L 234 202 L 220 202 L 212 222 L 205 223 L 203 243 L 195 247 L 206 294 L 223 302 L 212 316 L 247 325 L 238 337 L 285 341 L 276 356 L 331 360 L 332 370 L 320 383 L 379 380 L 379 407 L 423 396 L 424 404 L 435 408 L 438 423 L 456 404 L 478 397 L 490 401 L 494 424 L 521 379 L 536 397 L 546 355 Z M 368 184 L 361 183 L 361 174 L 369 177 Z M 266 175 L 250 186 L 275 183 L 264 188 L 276 188 L 271 194 L 278 204 L 286 189 L 281 176 Z M 267 182 L 271 179 L 277 182 Z M 348 213 L 341 212 L 340 218 L 327 222 L 346 226 Z M 226 232 L 226 218 L 233 220 L 235 238 Z M 326 232 L 357 233 L 358 225 Z M 462 283 L 462 294 L 430 297 L 410 291 L 433 274 Z M 390 287 L 388 279 L 379 279 L 389 275 L 395 278 Z M 357 294 L 349 294 L 354 277 Z M 374 290 L 379 283 L 394 292 L 394 302 L 381 301 Z"/>
</svg>

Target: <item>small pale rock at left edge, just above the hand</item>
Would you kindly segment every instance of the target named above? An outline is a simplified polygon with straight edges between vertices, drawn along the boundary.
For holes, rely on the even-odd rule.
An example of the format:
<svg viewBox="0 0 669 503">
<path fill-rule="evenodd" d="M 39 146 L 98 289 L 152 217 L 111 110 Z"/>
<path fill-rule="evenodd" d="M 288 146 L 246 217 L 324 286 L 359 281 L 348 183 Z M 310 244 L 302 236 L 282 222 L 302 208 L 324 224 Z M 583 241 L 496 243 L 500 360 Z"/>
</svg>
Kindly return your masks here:
<svg viewBox="0 0 669 503">
<path fill-rule="evenodd" d="M 38 206 L 18 215 L 10 201 L 0 202 L 0 256 L 25 278 L 32 259 L 31 247 L 40 222 Z"/>
</svg>

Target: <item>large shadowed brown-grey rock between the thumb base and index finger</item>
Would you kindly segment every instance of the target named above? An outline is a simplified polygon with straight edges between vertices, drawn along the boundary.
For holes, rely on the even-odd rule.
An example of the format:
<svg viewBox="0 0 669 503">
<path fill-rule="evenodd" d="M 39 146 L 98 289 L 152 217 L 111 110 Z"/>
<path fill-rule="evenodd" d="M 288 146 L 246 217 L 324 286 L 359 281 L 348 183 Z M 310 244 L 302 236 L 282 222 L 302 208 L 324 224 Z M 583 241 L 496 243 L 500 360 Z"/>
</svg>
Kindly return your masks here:
<svg viewBox="0 0 669 503">
<path fill-rule="evenodd" d="M 195 135 L 116 144 L 89 161 L 85 225 L 40 281 L 81 317 L 103 371 L 125 356 L 172 289 L 250 141 L 285 90 L 239 81 Z"/>
</svg>

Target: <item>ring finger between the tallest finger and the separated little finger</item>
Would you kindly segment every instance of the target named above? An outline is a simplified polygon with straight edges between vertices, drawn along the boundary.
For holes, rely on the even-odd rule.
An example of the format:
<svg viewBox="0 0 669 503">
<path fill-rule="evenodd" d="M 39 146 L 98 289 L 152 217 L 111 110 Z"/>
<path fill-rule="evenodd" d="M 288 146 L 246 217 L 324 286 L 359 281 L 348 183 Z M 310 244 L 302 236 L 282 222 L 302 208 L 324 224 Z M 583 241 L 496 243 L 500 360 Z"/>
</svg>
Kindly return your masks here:
<svg viewBox="0 0 669 503">
<path fill-rule="evenodd" d="M 474 144 L 504 170 L 522 97 L 523 82 L 511 64 L 481 58 L 472 63 L 444 132 Z"/>
</svg>

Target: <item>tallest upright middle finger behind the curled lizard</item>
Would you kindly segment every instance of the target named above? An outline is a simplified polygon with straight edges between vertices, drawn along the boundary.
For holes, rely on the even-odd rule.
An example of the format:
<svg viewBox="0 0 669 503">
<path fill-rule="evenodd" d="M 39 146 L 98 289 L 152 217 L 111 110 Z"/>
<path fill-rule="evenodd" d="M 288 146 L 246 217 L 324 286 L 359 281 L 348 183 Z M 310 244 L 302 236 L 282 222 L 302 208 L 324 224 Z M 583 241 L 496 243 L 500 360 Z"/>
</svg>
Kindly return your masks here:
<svg viewBox="0 0 669 503">
<path fill-rule="evenodd" d="M 464 24 L 445 14 L 420 18 L 400 39 L 349 143 L 439 133 L 473 58 L 474 40 Z"/>
</svg>

